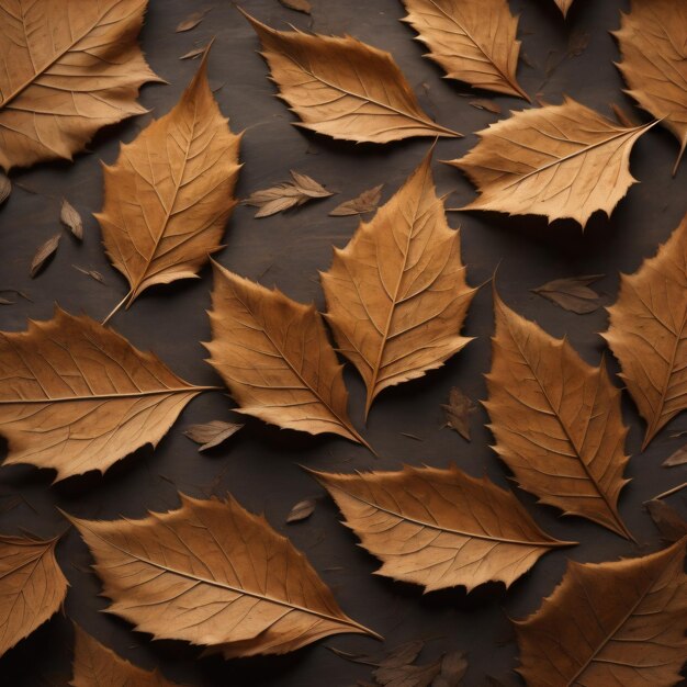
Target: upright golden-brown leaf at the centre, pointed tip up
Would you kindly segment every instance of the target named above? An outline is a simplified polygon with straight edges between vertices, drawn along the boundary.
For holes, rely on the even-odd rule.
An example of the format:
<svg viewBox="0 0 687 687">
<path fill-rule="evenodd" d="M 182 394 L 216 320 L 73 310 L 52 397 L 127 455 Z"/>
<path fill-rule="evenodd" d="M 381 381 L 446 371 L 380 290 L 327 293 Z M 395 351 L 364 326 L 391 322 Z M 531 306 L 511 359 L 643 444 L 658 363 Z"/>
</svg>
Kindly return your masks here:
<svg viewBox="0 0 687 687">
<path fill-rule="evenodd" d="M 441 367 L 471 340 L 460 330 L 475 290 L 430 162 L 431 151 L 320 274 L 327 322 L 368 388 L 365 415 L 382 390 Z"/>
</svg>

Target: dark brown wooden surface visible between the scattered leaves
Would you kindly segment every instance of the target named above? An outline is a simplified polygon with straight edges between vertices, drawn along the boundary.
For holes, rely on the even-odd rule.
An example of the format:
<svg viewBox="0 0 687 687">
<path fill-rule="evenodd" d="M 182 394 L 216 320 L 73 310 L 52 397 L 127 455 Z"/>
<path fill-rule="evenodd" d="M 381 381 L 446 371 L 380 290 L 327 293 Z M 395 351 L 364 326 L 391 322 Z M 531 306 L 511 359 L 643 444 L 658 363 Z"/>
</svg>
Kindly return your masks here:
<svg viewBox="0 0 687 687">
<path fill-rule="evenodd" d="M 282 8 L 277 0 L 251 0 L 248 11 L 269 24 L 285 29 L 288 23 L 320 33 L 350 33 L 374 46 L 391 50 L 418 93 L 423 106 L 441 124 L 463 132 L 465 138 L 437 144 L 433 165 L 440 193 L 452 194 L 449 206 L 460 206 L 474 196 L 461 173 L 438 162 L 459 157 L 476 142 L 472 132 L 497 120 L 469 104 L 471 98 L 491 95 L 470 91 L 421 57 L 423 46 L 413 41 L 414 32 L 398 20 L 404 15 L 397 0 L 312 0 L 312 19 Z M 328 217 L 336 204 L 360 191 L 384 183 L 386 200 L 425 155 L 429 139 L 414 139 L 386 146 L 335 143 L 308 135 L 291 125 L 285 105 L 274 97 L 268 70 L 257 54 L 258 41 L 232 2 L 217 0 L 203 23 L 189 33 L 174 27 L 190 12 L 207 7 L 200 0 L 150 0 L 140 40 L 153 69 L 169 81 L 143 88 L 140 100 L 151 115 L 132 119 L 102 132 L 74 164 L 40 165 L 13 174 L 21 188 L 0 209 L 0 288 L 18 288 L 30 293 L 33 303 L 21 300 L 0 306 L 0 325 L 21 330 L 26 318 L 49 318 L 53 303 L 72 313 L 85 312 L 101 319 L 123 296 L 126 285 L 108 263 L 100 233 L 91 213 L 102 201 L 100 160 L 113 162 L 120 140 L 129 142 L 154 115 L 167 112 L 198 67 L 198 61 L 179 61 L 187 50 L 216 36 L 210 57 L 213 86 L 222 111 L 233 131 L 246 132 L 241 145 L 237 192 L 240 196 L 288 178 L 290 169 L 311 174 L 340 193 L 315 201 L 295 212 L 267 219 L 254 219 L 251 209 L 239 206 L 226 230 L 227 247 L 217 259 L 232 270 L 266 285 L 277 284 L 288 295 L 322 305 L 317 270 L 327 269 L 331 245 L 344 246 L 356 229 L 356 217 Z M 564 93 L 610 113 L 609 103 L 627 109 L 622 82 L 613 66 L 619 58 L 610 30 L 619 25 L 619 0 L 576 0 L 567 23 L 553 0 L 513 0 L 520 13 L 522 53 L 518 78 L 532 97 L 559 102 Z M 588 35 L 589 44 L 579 56 L 568 55 L 567 45 Z M 547 68 L 558 67 L 547 78 Z M 494 98 L 504 109 L 527 106 L 521 100 Z M 643 117 L 640 111 L 635 116 Z M 632 154 L 632 173 L 641 182 L 622 200 L 611 219 L 596 214 L 583 234 L 572 222 L 548 226 L 543 218 L 508 218 L 500 215 L 450 213 L 452 226 L 462 228 L 463 259 L 469 280 L 480 284 L 498 269 L 498 288 L 505 301 L 522 315 L 536 319 L 554 336 L 567 335 L 585 360 L 598 364 L 604 346 L 598 331 L 606 328 L 605 311 L 577 316 L 530 293 L 550 279 L 605 273 L 599 282 L 605 303 L 615 299 L 618 272 L 634 271 L 644 257 L 655 252 L 661 241 L 677 226 L 685 212 L 687 162 L 675 179 L 671 169 L 677 143 L 666 129 L 654 127 L 643 136 Z M 29 192 L 29 191 L 32 192 Z M 29 264 L 44 240 L 59 229 L 61 196 L 82 214 L 86 238 L 78 244 L 65 235 L 59 251 L 35 280 Z M 106 280 L 101 285 L 78 273 L 72 264 L 99 270 Z M 207 269 L 196 281 L 177 282 L 146 292 L 131 311 L 120 313 L 113 327 L 142 349 L 154 350 L 172 370 L 198 384 L 217 383 L 203 362 L 200 341 L 207 340 L 205 309 L 210 304 L 211 274 Z M 651 496 L 685 480 L 684 469 L 666 470 L 661 462 L 678 446 L 671 431 L 687 428 L 687 417 L 678 417 L 640 453 L 643 424 L 626 397 L 623 413 L 631 426 L 627 450 L 633 454 L 628 468 L 631 484 L 620 498 L 620 510 L 638 544 L 579 518 L 559 518 L 558 511 L 536 506 L 534 499 L 518 491 L 537 521 L 553 536 L 577 540 L 579 545 L 545 555 L 506 593 L 500 585 L 486 585 L 470 595 L 458 588 L 423 595 L 418 587 L 373 576 L 376 561 L 357 547 L 356 537 L 339 525 L 334 505 L 300 468 L 299 463 L 322 470 L 397 469 L 402 463 L 447 465 L 458 463 L 474 475 L 487 473 L 500 485 L 508 475 L 488 448 L 492 440 L 484 427 L 483 409 L 472 416 L 472 442 L 442 429 L 440 404 L 452 385 L 460 385 L 471 397 L 483 399 L 483 374 L 489 367 L 492 296 L 483 289 L 474 300 L 464 333 L 477 337 L 444 368 L 420 381 L 385 391 L 374 404 L 365 436 L 382 458 L 374 460 L 361 448 L 336 437 L 313 438 L 280 431 L 258 420 L 248 420 L 221 448 L 199 454 L 182 429 L 191 423 L 235 419 L 232 401 L 222 393 L 210 393 L 193 401 L 169 435 L 153 452 L 145 448 L 111 468 L 104 476 L 88 474 L 50 486 L 53 473 L 30 466 L 0 469 L 0 531 L 15 533 L 21 528 L 40 536 L 54 536 L 65 529 L 55 507 L 77 516 L 115 518 L 140 517 L 146 509 L 166 510 L 178 505 L 177 491 L 203 496 L 232 492 L 248 509 L 264 511 L 268 520 L 305 552 L 324 581 L 329 584 L 344 610 L 385 638 L 382 645 L 362 637 L 337 637 L 289 654 L 224 662 L 200 658 L 201 651 L 183 642 L 150 642 L 125 621 L 100 612 L 106 600 L 99 597 L 98 578 L 89 573 L 91 559 L 72 530 L 58 547 L 58 559 L 70 582 L 66 616 L 117 653 L 137 665 L 159 666 L 173 680 L 189 685 L 283 685 L 294 687 L 345 687 L 370 677 L 370 669 L 335 656 L 326 645 L 351 652 L 379 652 L 413 640 L 429 640 L 423 660 L 443 651 L 468 652 L 470 669 L 465 684 L 481 686 L 485 675 L 508 677 L 516 665 L 516 646 L 508 618 L 534 611 L 544 596 L 560 582 L 567 558 L 577 561 L 610 561 L 635 556 L 661 547 L 658 534 L 642 508 Z M 617 370 L 607 356 L 612 371 Z M 363 387 L 350 369 L 346 381 L 351 392 L 350 412 L 362 428 Z M 416 441 L 402 436 L 410 432 Z M 0 454 L 4 454 L 4 447 Z M 22 503 L 11 507 L 14 496 Z M 313 517 L 285 526 L 293 504 L 317 498 Z M 682 507 L 682 497 L 671 502 Z M 12 686 L 64 685 L 70 679 L 71 628 L 69 620 L 55 616 L 33 635 L 0 661 L 0 684 Z M 517 677 L 513 675 L 517 684 Z"/>
</svg>

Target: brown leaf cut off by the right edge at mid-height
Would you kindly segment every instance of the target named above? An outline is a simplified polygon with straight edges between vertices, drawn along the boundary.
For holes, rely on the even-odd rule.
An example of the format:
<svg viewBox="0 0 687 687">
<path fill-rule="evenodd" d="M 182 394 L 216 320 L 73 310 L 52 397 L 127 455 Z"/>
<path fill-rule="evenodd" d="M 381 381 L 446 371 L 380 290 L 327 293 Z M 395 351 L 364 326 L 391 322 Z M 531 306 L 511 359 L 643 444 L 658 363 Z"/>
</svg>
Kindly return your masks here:
<svg viewBox="0 0 687 687">
<path fill-rule="evenodd" d="M 642 450 L 687 408 L 687 215 L 655 257 L 621 274 L 618 300 L 601 336 L 646 421 Z"/>
</svg>

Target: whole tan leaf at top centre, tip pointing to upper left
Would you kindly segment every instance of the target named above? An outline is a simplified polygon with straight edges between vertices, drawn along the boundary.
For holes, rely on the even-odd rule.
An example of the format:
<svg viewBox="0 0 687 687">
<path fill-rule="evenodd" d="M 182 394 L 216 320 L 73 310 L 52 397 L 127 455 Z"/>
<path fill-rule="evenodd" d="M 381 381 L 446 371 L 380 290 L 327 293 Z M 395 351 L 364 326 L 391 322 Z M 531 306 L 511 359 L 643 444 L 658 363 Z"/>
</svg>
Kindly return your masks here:
<svg viewBox="0 0 687 687">
<path fill-rule="evenodd" d="M 461 135 L 423 112 L 390 53 L 351 36 L 275 31 L 238 9 L 258 34 L 297 126 L 358 143 Z"/>
</svg>

